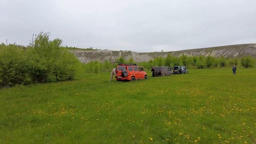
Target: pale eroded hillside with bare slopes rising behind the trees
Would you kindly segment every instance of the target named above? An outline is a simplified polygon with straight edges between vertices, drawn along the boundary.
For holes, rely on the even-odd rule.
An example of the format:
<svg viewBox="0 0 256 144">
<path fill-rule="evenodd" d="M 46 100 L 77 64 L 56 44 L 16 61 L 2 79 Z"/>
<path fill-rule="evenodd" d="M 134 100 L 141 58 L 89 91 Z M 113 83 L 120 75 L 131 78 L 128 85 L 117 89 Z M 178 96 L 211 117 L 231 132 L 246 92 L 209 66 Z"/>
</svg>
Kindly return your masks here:
<svg viewBox="0 0 256 144">
<path fill-rule="evenodd" d="M 256 44 L 238 44 L 230 46 L 218 46 L 211 48 L 198 48 L 191 50 L 180 50 L 174 52 L 133 52 L 133 51 L 113 51 L 113 50 L 71 50 L 74 55 L 83 63 L 88 63 L 92 60 L 98 60 L 104 62 L 105 60 L 115 61 L 122 56 L 128 60 L 133 58 L 135 62 L 149 61 L 158 56 L 166 57 L 168 54 L 172 56 L 181 56 L 185 54 L 187 56 L 213 56 L 213 57 L 242 57 L 250 55 L 256 57 Z"/>
</svg>

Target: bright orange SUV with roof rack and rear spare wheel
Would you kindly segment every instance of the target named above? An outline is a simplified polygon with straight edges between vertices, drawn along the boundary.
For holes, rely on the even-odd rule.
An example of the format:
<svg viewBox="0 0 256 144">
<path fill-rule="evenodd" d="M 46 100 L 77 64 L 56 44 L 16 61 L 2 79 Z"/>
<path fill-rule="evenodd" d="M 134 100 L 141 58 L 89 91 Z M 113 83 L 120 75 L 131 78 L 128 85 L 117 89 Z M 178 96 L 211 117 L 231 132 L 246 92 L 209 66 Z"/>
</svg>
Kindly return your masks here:
<svg viewBox="0 0 256 144">
<path fill-rule="evenodd" d="M 117 81 L 133 81 L 147 79 L 147 73 L 137 64 L 119 64 L 116 70 Z"/>
</svg>

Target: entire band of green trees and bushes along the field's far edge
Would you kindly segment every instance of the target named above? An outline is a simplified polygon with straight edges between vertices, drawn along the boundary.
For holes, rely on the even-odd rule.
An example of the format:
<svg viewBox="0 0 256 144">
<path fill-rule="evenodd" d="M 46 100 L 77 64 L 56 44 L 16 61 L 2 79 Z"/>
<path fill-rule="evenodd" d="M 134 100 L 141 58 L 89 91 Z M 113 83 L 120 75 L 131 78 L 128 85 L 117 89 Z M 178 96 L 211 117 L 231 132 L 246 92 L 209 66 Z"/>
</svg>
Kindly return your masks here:
<svg viewBox="0 0 256 144">
<path fill-rule="evenodd" d="M 40 32 L 33 36 L 29 46 L 17 44 L 0 44 L 0 86 L 14 86 L 16 84 L 45 83 L 60 80 L 72 80 L 78 70 L 81 72 L 110 72 L 118 63 L 134 64 L 133 58 L 128 60 L 119 57 L 116 62 L 91 61 L 82 64 L 79 60 L 62 47 L 62 40 L 50 40 L 50 33 Z M 224 68 L 233 65 L 252 68 L 255 60 L 250 56 L 242 58 L 214 58 L 212 56 L 182 55 L 174 57 L 168 54 L 165 58 L 156 57 L 148 62 L 140 62 L 144 70 L 153 66 L 178 66 L 187 68 Z"/>
</svg>

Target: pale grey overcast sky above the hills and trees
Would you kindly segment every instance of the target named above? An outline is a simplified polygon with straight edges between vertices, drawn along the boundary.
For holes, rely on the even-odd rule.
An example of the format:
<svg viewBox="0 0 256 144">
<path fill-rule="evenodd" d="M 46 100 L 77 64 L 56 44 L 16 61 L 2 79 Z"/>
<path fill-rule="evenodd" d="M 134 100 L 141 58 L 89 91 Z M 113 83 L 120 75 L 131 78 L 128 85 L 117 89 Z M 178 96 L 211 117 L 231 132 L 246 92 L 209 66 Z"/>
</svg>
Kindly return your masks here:
<svg viewBox="0 0 256 144">
<path fill-rule="evenodd" d="M 50 32 L 79 48 L 176 51 L 256 43 L 256 0 L 0 0 L 0 42 Z"/>
</svg>

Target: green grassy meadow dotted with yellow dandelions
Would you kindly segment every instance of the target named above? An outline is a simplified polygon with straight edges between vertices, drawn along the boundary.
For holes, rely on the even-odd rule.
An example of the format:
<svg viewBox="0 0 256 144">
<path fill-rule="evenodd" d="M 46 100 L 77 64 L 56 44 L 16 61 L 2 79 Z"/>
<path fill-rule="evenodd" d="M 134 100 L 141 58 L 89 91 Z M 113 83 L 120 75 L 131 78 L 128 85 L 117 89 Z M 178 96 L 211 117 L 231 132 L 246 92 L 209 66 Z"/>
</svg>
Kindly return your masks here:
<svg viewBox="0 0 256 144">
<path fill-rule="evenodd" d="M 252 144 L 255 70 L 190 70 L 136 82 L 81 74 L 2 88 L 0 143 Z"/>
</svg>

